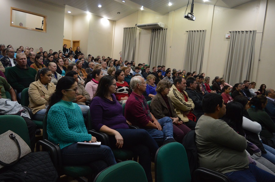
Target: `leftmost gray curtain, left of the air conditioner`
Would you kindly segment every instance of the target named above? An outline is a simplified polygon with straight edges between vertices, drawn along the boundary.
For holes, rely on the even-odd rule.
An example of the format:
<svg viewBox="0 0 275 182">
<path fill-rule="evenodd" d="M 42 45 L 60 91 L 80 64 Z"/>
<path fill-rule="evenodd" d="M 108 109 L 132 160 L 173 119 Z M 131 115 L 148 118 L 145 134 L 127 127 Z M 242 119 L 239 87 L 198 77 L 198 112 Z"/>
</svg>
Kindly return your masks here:
<svg viewBox="0 0 275 182">
<path fill-rule="evenodd" d="M 123 28 L 122 59 L 134 61 L 136 47 L 136 27 Z"/>
</svg>

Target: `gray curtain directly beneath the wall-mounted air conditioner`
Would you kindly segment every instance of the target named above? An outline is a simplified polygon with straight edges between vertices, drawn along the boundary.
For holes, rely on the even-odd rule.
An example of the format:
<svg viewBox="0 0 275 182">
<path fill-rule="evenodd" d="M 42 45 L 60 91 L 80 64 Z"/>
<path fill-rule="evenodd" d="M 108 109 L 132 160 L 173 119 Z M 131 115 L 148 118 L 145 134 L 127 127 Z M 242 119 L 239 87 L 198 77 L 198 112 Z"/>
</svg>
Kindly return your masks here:
<svg viewBox="0 0 275 182">
<path fill-rule="evenodd" d="M 166 32 L 167 29 L 152 29 L 149 65 L 165 65 L 166 59 Z"/>
</svg>

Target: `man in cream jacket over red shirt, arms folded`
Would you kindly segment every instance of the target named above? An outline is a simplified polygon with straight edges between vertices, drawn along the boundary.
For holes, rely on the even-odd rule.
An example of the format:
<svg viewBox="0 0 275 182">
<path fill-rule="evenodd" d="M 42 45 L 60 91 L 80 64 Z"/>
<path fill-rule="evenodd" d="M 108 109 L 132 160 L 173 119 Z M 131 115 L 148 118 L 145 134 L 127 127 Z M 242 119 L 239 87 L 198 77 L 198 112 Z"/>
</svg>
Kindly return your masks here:
<svg viewBox="0 0 275 182">
<path fill-rule="evenodd" d="M 183 77 L 176 77 L 168 97 L 171 99 L 173 107 L 180 120 L 190 129 L 194 130 L 196 126 L 196 116 L 192 113 L 195 108 L 193 101 L 185 92 L 186 80 Z M 194 122 L 195 121 L 195 122 Z"/>
</svg>

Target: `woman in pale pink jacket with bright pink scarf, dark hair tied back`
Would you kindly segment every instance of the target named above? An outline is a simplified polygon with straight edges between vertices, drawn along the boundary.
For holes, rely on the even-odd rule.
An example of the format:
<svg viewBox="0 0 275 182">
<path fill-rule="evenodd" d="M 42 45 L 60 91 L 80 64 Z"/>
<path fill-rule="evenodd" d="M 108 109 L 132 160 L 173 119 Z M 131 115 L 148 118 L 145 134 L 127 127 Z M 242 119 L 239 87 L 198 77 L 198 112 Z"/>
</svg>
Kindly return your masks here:
<svg viewBox="0 0 275 182">
<path fill-rule="evenodd" d="M 90 94 L 90 101 L 93 99 L 94 94 L 97 91 L 98 82 L 103 76 L 103 72 L 101 69 L 94 69 L 91 73 L 87 75 L 87 79 L 85 81 L 85 89 Z"/>
</svg>

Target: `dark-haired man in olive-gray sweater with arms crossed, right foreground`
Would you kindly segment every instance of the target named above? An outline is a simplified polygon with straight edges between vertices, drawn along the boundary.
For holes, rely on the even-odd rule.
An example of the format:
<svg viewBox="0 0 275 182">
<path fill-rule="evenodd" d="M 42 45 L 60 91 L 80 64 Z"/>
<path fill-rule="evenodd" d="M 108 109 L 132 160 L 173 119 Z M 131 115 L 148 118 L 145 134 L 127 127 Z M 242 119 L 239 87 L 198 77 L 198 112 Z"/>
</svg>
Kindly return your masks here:
<svg viewBox="0 0 275 182">
<path fill-rule="evenodd" d="M 226 114 L 222 96 L 209 93 L 202 101 L 204 115 L 196 124 L 200 167 L 224 173 L 230 181 L 275 181 L 275 176 L 249 164 L 246 139 L 220 120 Z"/>
</svg>

